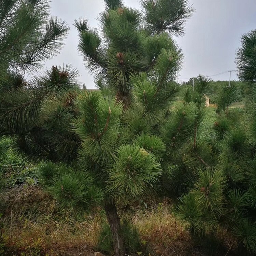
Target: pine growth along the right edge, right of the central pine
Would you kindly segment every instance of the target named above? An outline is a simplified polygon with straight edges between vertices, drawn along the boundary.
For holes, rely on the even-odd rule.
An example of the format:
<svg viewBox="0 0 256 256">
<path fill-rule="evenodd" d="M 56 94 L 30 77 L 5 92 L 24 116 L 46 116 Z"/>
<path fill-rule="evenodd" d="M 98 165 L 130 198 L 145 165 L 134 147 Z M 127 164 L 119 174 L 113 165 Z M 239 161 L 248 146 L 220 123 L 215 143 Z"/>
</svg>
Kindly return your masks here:
<svg viewBox="0 0 256 256">
<path fill-rule="evenodd" d="M 250 82 L 251 94 L 245 99 L 244 109 L 237 109 L 231 106 L 239 99 L 238 86 L 224 83 L 218 89 L 213 98 L 217 108 L 212 128 L 208 134 L 199 132 L 196 150 L 185 148 L 183 162 L 191 169 L 193 179 L 179 205 L 180 217 L 191 230 L 202 237 L 224 227 L 237 238 L 241 255 L 256 252 L 254 35 L 255 31 L 243 35 L 237 52 L 239 77 Z M 199 106 L 196 93 L 186 91 L 185 101 L 195 100 Z M 200 117 L 201 124 L 205 123 L 207 116 Z M 172 182 L 175 184 L 175 180 Z"/>
</svg>

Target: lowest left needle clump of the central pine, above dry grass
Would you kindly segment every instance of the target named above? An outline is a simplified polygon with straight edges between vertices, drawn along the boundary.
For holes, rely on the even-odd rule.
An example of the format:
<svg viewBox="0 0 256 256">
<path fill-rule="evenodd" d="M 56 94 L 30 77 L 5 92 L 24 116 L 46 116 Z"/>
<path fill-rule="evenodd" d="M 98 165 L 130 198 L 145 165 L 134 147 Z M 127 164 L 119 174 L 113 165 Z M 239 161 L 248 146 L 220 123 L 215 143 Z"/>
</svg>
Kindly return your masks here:
<svg viewBox="0 0 256 256">
<path fill-rule="evenodd" d="M 103 191 L 93 176 L 74 163 L 71 166 L 45 162 L 39 167 L 40 179 L 62 208 L 83 214 L 103 200 Z"/>
</svg>

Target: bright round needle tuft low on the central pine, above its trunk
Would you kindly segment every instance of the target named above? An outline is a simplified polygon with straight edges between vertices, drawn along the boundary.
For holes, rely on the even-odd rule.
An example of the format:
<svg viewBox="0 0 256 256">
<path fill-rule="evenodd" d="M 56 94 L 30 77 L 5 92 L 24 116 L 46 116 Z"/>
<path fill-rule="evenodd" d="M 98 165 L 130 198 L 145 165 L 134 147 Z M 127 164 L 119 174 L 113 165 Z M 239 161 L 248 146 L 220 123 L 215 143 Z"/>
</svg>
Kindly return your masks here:
<svg viewBox="0 0 256 256">
<path fill-rule="evenodd" d="M 109 171 L 107 192 L 117 200 L 154 195 L 161 174 L 157 158 L 137 145 L 123 145 Z"/>
</svg>

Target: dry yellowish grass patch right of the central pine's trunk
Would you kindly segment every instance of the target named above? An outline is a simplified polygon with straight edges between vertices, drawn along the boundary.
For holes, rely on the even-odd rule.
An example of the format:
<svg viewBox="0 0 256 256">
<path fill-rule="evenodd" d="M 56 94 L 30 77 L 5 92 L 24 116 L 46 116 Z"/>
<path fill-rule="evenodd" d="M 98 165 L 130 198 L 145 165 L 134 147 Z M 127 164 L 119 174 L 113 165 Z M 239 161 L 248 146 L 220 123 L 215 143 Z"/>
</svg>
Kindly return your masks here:
<svg viewBox="0 0 256 256">
<path fill-rule="evenodd" d="M 153 205 L 148 211 L 137 210 L 132 218 L 142 240 L 151 244 L 159 255 L 187 255 L 193 247 L 192 239 L 184 226 L 171 213 L 168 201 Z"/>
</svg>

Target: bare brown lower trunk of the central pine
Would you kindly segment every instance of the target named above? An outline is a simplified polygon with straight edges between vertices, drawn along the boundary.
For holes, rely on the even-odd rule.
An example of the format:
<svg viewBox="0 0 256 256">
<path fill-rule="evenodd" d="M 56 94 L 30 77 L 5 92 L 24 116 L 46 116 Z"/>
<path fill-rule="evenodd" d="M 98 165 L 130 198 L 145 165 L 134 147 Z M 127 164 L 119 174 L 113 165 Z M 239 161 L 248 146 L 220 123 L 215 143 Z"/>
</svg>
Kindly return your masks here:
<svg viewBox="0 0 256 256">
<path fill-rule="evenodd" d="M 125 256 L 124 238 L 120 219 L 117 215 L 116 206 L 113 201 L 105 204 L 105 212 L 112 232 L 115 256 Z"/>
</svg>

